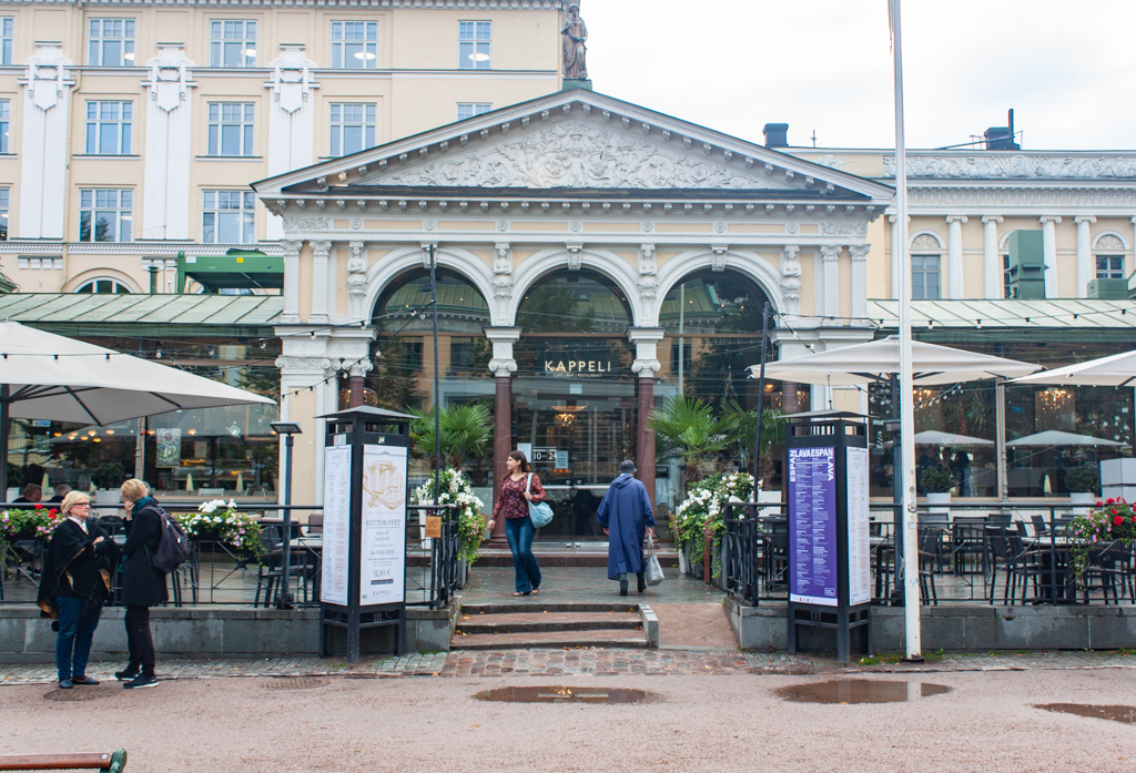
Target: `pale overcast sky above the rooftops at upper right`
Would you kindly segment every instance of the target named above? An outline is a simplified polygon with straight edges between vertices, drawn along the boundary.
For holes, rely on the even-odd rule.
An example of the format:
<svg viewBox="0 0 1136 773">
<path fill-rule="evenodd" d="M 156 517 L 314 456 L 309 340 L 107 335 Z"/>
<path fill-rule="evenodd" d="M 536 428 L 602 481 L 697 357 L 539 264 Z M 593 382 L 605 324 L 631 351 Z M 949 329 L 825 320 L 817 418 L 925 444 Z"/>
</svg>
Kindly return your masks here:
<svg viewBox="0 0 1136 773">
<path fill-rule="evenodd" d="M 886 0 L 580 0 L 598 92 L 746 140 L 892 148 Z M 1136 0 L 905 0 L 909 148 L 1136 149 Z"/>
</svg>

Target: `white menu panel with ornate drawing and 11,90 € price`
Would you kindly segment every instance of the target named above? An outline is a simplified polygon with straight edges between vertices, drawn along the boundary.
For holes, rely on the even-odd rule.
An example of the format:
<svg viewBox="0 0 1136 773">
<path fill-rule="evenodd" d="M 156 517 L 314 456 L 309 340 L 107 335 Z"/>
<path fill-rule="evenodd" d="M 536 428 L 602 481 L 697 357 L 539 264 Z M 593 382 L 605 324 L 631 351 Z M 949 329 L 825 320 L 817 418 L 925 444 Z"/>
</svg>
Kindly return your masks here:
<svg viewBox="0 0 1136 773">
<path fill-rule="evenodd" d="M 407 449 L 362 447 L 359 605 L 406 600 Z"/>
</svg>

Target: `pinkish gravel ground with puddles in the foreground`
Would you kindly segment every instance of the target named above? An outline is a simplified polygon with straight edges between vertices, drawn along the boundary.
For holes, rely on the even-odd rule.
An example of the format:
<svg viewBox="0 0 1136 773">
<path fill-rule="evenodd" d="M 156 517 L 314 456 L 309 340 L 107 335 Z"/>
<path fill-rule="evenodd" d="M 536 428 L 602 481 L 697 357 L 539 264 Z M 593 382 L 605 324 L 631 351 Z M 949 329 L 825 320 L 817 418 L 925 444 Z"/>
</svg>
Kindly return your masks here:
<svg viewBox="0 0 1136 773">
<path fill-rule="evenodd" d="M 1127 669 L 859 674 L 934 682 L 907 704 L 811 705 L 830 677 L 185 679 L 0 688 L 0 753 L 125 747 L 127 771 L 1131 771 L 1136 729 L 1033 704 L 1133 704 Z M 303 683 L 303 682 L 300 682 Z M 488 704 L 535 684 L 636 688 L 640 705 Z M 61 699 L 62 698 L 62 699 Z"/>
</svg>

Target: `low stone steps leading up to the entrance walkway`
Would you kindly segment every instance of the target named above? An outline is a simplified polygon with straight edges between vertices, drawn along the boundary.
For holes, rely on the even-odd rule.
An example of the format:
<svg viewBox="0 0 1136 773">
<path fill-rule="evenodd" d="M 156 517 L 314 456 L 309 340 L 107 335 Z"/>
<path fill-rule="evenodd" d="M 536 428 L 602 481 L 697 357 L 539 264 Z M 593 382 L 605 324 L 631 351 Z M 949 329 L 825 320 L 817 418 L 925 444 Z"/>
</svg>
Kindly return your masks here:
<svg viewBox="0 0 1136 773">
<path fill-rule="evenodd" d="M 451 649 L 658 646 L 659 620 L 636 602 L 462 604 L 450 644 Z"/>
</svg>

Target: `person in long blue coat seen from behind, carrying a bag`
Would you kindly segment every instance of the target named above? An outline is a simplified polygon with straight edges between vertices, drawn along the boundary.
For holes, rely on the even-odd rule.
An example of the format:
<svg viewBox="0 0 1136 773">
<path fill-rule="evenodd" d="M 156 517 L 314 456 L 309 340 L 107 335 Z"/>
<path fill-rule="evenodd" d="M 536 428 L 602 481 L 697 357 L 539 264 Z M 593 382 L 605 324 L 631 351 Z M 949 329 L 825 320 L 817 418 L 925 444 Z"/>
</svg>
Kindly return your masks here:
<svg viewBox="0 0 1136 773">
<path fill-rule="evenodd" d="M 646 590 L 643 565 L 643 538 L 654 536 L 654 512 L 646 486 L 635 479 L 635 462 L 619 463 L 619 477 L 603 495 L 595 518 L 608 535 L 608 579 L 619 580 L 619 595 L 627 595 L 627 574 L 638 579 L 638 591 Z"/>
</svg>

